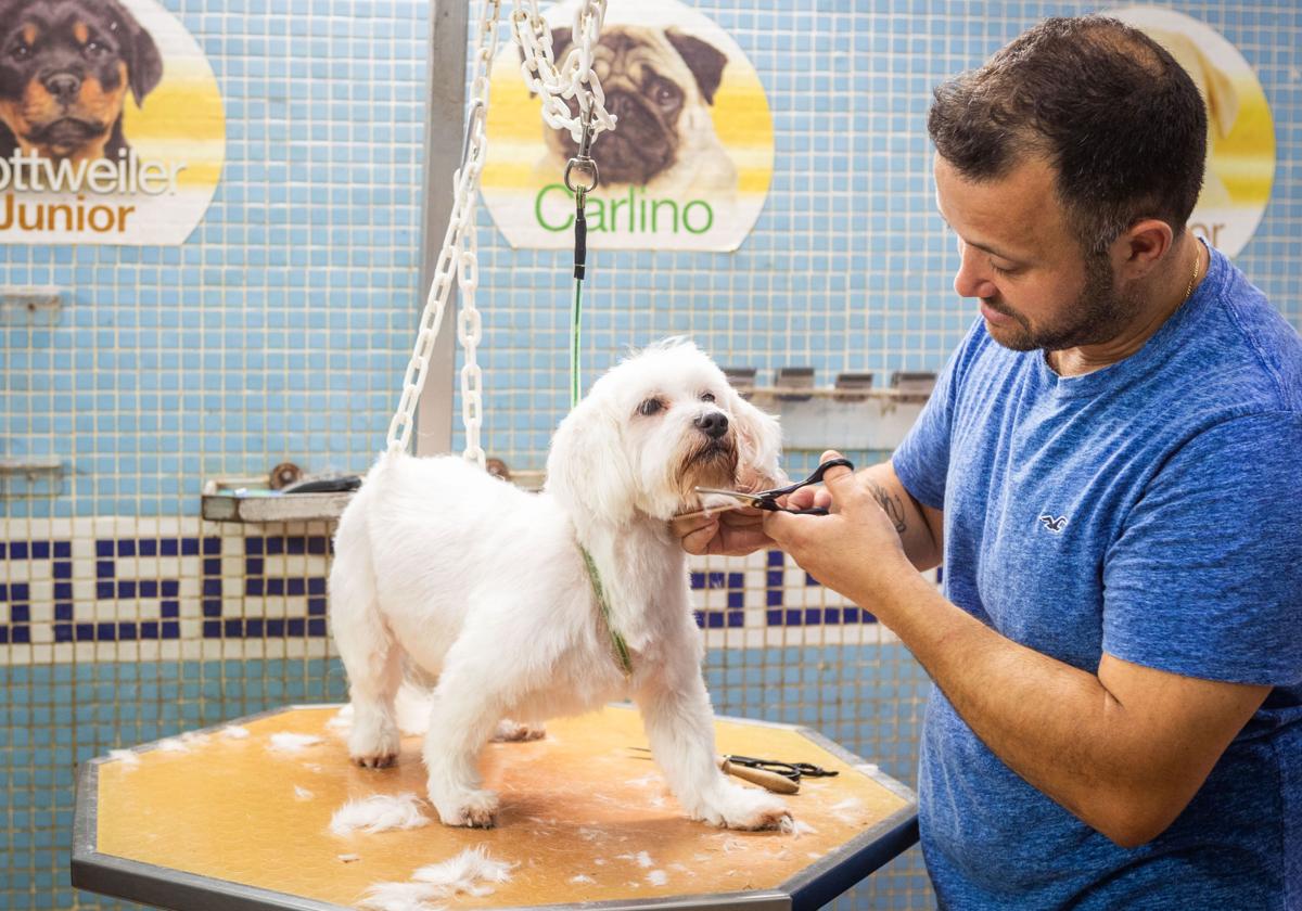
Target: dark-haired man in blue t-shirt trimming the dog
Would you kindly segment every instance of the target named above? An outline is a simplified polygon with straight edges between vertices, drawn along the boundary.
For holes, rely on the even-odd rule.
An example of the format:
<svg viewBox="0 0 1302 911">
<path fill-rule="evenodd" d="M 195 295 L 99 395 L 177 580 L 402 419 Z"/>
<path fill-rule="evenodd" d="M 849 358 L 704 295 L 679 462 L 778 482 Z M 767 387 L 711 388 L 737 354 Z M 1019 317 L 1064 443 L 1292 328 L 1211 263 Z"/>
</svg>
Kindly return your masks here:
<svg viewBox="0 0 1302 911">
<path fill-rule="evenodd" d="M 935 95 L 980 319 L 918 424 L 793 496 L 831 515 L 676 530 L 776 543 L 927 669 L 941 907 L 1302 908 L 1302 342 L 1187 230 L 1197 88 L 1090 17 Z"/>
</svg>

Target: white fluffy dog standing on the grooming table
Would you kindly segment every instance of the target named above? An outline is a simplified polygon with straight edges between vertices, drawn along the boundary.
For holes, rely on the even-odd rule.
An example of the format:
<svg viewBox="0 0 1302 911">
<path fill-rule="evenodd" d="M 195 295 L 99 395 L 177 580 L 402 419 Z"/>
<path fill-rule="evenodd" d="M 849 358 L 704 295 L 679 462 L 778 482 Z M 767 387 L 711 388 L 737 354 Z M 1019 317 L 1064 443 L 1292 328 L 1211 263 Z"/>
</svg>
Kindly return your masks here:
<svg viewBox="0 0 1302 911">
<path fill-rule="evenodd" d="M 611 370 L 561 422 L 542 493 L 457 457 L 381 456 L 340 519 L 329 577 L 354 761 L 397 756 L 409 664 L 439 677 L 423 757 L 448 825 L 493 824 L 497 795 L 477 765 L 504 718 L 535 725 L 628 696 L 691 817 L 734 829 L 789 819 L 716 765 L 686 558 L 668 527 L 700 506 L 698 484 L 780 482 L 779 442 L 775 418 L 671 340 Z"/>
</svg>

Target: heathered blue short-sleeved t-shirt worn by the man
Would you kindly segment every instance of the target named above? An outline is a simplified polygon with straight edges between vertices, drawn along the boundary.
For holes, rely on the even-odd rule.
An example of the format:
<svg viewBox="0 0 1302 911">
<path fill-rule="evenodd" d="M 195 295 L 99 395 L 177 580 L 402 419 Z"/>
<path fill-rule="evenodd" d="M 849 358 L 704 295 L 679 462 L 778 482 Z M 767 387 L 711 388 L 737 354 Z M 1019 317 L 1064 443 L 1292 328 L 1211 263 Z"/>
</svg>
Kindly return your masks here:
<svg viewBox="0 0 1302 911">
<path fill-rule="evenodd" d="M 1139 351 L 1075 377 L 978 320 L 892 462 L 944 509 L 947 597 L 1004 636 L 1091 673 L 1108 652 L 1275 687 L 1133 850 L 934 687 L 919 820 L 941 907 L 1302 908 L 1302 341 L 1264 295 L 1212 251 Z"/>
</svg>

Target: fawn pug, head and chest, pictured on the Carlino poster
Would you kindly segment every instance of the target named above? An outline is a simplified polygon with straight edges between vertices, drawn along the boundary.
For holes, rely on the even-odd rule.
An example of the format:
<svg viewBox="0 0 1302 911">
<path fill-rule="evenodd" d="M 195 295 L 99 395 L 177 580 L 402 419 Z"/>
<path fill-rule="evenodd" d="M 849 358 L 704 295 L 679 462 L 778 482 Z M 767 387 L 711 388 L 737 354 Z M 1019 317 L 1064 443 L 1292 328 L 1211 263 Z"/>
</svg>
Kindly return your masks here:
<svg viewBox="0 0 1302 911">
<path fill-rule="evenodd" d="M 552 52 L 564 60 L 569 29 L 552 30 Z M 728 56 L 713 44 L 676 29 L 607 26 L 592 52 L 592 72 L 605 92 L 605 109 L 618 118 L 592 143 L 600 190 L 644 187 L 656 197 L 695 193 L 730 195 L 737 168 L 715 134 L 710 108 Z M 569 100 L 570 111 L 578 105 Z M 544 126 L 546 173 L 565 170 L 578 152 L 569 130 Z"/>
</svg>

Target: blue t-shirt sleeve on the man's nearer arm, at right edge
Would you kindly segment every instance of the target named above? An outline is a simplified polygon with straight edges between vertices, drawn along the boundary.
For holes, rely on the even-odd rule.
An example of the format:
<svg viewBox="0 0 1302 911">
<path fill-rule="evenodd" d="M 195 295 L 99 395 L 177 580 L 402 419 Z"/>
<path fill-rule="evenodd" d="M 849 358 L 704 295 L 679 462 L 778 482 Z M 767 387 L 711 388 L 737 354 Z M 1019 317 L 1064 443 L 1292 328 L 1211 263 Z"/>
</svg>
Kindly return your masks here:
<svg viewBox="0 0 1302 911">
<path fill-rule="evenodd" d="M 1103 567 L 1103 648 L 1186 677 L 1302 681 L 1302 415 L 1236 418 L 1186 442 Z"/>
</svg>

